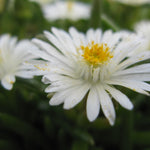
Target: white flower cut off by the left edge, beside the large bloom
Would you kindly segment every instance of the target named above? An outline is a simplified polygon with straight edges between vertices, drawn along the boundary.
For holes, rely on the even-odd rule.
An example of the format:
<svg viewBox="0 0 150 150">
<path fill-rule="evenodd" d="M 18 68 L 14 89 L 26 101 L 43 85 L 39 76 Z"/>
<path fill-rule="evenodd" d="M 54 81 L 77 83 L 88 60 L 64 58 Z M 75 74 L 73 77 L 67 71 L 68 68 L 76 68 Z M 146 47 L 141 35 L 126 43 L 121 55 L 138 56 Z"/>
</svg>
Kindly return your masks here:
<svg viewBox="0 0 150 150">
<path fill-rule="evenodd" d="M 32 78 L 33 67 L 28 62 L 34 58 L 29 49 L 36 49 L 28 40 L 22 40 L 17 43 L 16 37 L 9 34 L 0 36 L 0 81 L 5 89 L 11 90 L 15 82 L 15 76 L 23 78 Z"/>
</svg>

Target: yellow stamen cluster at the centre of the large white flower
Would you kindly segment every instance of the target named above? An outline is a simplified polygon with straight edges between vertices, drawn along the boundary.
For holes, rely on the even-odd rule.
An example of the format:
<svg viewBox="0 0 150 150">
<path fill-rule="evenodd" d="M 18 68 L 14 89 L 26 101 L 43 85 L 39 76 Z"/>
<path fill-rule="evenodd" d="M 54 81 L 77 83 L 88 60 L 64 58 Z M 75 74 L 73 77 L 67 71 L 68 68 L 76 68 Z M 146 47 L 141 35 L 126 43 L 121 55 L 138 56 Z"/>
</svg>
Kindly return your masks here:
<svg viewBox="0 0 150 150">
<path fill-rule="evenodd" d="M 81 50 L 83 51 L 82 57 L 87 63 L 93 66 L 101 65 L 108 62 L 112 57 L 112 52 L 107 44 L 94 43 L 88 44 L 87 46 L 81 45 Z"/>
</svg>

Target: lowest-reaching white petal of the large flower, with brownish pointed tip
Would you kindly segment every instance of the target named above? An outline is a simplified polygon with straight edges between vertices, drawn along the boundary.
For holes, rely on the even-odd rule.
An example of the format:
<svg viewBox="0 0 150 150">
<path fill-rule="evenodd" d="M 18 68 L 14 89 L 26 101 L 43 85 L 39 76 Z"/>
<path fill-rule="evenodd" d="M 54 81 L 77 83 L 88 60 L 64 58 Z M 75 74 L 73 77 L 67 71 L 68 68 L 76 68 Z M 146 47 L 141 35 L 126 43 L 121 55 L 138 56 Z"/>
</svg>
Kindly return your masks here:
<svg viewBox="0 0 150 150">
<path fill-rule="evenodd" d="M 99 95 L 100 105 L 102 107 L 105 117 L 109 120 L 111 125 L 114 125 L 116 114 L 113 103 L 107 94 L 107 92 L 101 86 L 97 86 L 97 91 Z"/>
</svg>

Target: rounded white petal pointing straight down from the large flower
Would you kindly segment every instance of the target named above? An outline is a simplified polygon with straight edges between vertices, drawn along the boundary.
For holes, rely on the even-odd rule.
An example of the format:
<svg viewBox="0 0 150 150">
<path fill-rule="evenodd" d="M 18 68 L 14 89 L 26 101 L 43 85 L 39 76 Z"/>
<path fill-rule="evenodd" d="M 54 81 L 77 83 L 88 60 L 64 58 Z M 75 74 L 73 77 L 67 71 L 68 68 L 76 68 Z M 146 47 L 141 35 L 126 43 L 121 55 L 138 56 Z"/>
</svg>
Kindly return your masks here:
<svg viewBox="0 0 150 150">
<path fill-rule="evenodd" d="M 94 87 L 91 88 L 86 104 L 86 113 L 89 121 L 94 121 L 100 111 L 100 101 L 98 93 Z"/>
</svg>

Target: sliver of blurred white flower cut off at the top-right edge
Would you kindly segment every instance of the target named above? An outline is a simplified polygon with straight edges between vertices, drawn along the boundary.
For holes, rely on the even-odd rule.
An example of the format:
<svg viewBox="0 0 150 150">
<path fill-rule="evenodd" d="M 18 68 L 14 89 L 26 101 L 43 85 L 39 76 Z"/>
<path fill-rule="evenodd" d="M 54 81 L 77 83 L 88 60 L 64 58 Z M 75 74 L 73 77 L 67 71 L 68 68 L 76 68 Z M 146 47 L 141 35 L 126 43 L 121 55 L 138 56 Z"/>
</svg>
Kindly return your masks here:
<svg viewBox="0 0 150 150">
<path fill-rule="evenodd" d="M 150 0 L 112 0 L 112 1 L 120 2 L 127 5 L 133 5 L 133 6 L 150 4 Z"/>
</svg>

